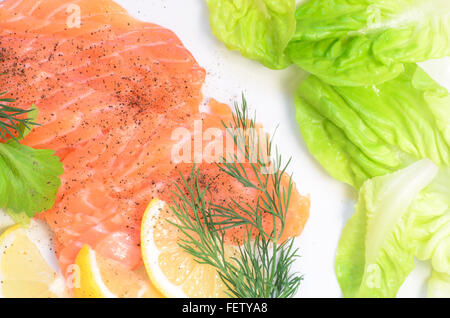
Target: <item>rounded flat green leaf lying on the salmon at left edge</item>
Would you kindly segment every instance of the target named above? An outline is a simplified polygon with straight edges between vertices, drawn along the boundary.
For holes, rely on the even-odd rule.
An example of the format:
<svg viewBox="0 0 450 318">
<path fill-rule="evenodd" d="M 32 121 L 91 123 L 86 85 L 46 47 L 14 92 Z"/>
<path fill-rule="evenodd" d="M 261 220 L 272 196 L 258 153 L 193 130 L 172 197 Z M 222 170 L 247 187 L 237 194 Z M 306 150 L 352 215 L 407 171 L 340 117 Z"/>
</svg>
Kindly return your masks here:
<svg viewBox="0 0 450 318">
<path fill-rule="evenodd" d="M 53 154 L 16 141 L 0 144 L 0 208 L 33 217 L 53 206 L 64 172 Z"/>
</svg>

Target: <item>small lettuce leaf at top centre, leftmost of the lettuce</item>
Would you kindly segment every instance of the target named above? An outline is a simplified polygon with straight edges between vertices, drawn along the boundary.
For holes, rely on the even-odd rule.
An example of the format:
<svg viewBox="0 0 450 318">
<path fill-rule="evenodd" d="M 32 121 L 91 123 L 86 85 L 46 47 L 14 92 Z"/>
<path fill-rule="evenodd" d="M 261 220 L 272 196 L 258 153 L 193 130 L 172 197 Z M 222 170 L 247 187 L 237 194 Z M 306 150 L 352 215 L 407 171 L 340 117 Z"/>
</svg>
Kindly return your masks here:
<svg viewBox="0 0 450 318">
<path fill-rule="evenodd" d="M 284 50 L 295 32 L 295 0 L 206 0 L 213 34 L 231 50 L 272 69 L 292 64 Z"/>
</svg>

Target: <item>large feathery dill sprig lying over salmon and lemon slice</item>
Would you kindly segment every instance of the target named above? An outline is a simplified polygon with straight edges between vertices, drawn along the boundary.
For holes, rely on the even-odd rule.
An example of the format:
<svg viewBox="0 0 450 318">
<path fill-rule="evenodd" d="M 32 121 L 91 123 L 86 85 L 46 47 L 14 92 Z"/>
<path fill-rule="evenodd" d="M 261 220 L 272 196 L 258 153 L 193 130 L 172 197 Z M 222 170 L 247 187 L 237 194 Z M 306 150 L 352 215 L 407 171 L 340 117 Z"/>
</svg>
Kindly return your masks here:
<svg viewBox="0 0 450 318">
<path fill-rule="evenodd" d="M 265 170 L 272 142 L 267 136 L 261 140 L 254 129 L 248 129 L 255 128 L 255 120 L 248 116 L 244 97 L 241 107 L 235 104 L 232 127 L 225 123 L 224 127 L 233 134 L 238 154 L 228 154 L 217 164 L 218 168 L 261 195 L 254 206 L 234 199 L 223 206 L 213 204 L 207 199 L 210 195 L 208 185 L 202 186 L 199 181 L 200 168 L 194 165 L 188 178 L 180 174 L 182 182 L 176 184 L 171 205 L 177 222 L 170 223 L 184 234 L 179 241 L 181 248 L 198 263 L 216 268 L 229 296 L 291 297 L 298 290 L 302 276 L 291 271 L 291 265 L 298 257 L 293 238 L 281 241 L 293 187 L 292 176 L 287 187 L 282 185 L 289 161 L 281 166 L 281 156 L 277 152 L 270 173 Z M 262 149 L 266 150 L 265 155 L 255 157 L 254 154 Z M 244 155 L 250 162 L 250 171 L 239 162 L 239 155 Z M 270 231 L 263 226 L 265 215 L 272 217 Z M 244 229 L 244 237 L 231 247 L 226 243 L 226 231 L 236 227 Z"/>
</svg>

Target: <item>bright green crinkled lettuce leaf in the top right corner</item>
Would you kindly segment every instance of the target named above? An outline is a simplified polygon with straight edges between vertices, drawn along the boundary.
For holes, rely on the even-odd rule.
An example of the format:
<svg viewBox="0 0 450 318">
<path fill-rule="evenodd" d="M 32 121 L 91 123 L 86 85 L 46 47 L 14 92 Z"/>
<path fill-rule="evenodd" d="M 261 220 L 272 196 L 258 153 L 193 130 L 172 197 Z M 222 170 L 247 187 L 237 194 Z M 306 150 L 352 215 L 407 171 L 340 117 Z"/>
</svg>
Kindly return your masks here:
<svg viewBox="0 0 450 318">
<path fill-rule="evenodd" d="M 333 85 L 379 84 L 450 54 L 448 0 L 314 0 L 296 19 L 286 54 Z"/>
</svg>

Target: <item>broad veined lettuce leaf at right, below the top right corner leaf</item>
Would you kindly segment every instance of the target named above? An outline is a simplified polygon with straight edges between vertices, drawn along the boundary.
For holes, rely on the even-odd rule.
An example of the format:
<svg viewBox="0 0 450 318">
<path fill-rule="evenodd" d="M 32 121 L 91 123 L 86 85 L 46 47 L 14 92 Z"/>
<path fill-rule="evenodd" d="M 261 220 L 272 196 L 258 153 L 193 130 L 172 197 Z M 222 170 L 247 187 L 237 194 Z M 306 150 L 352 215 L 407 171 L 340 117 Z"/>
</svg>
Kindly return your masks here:
<svg viewBox="0 0 450 318">
<path fill-rule="evenodd" d="M 295 104 L 313 156 L 356 188 L 422 158 L 450 164 L 450 95 L 415 64 L 364 87 L 331 86 L 311 75 Z"/>
</svg>

